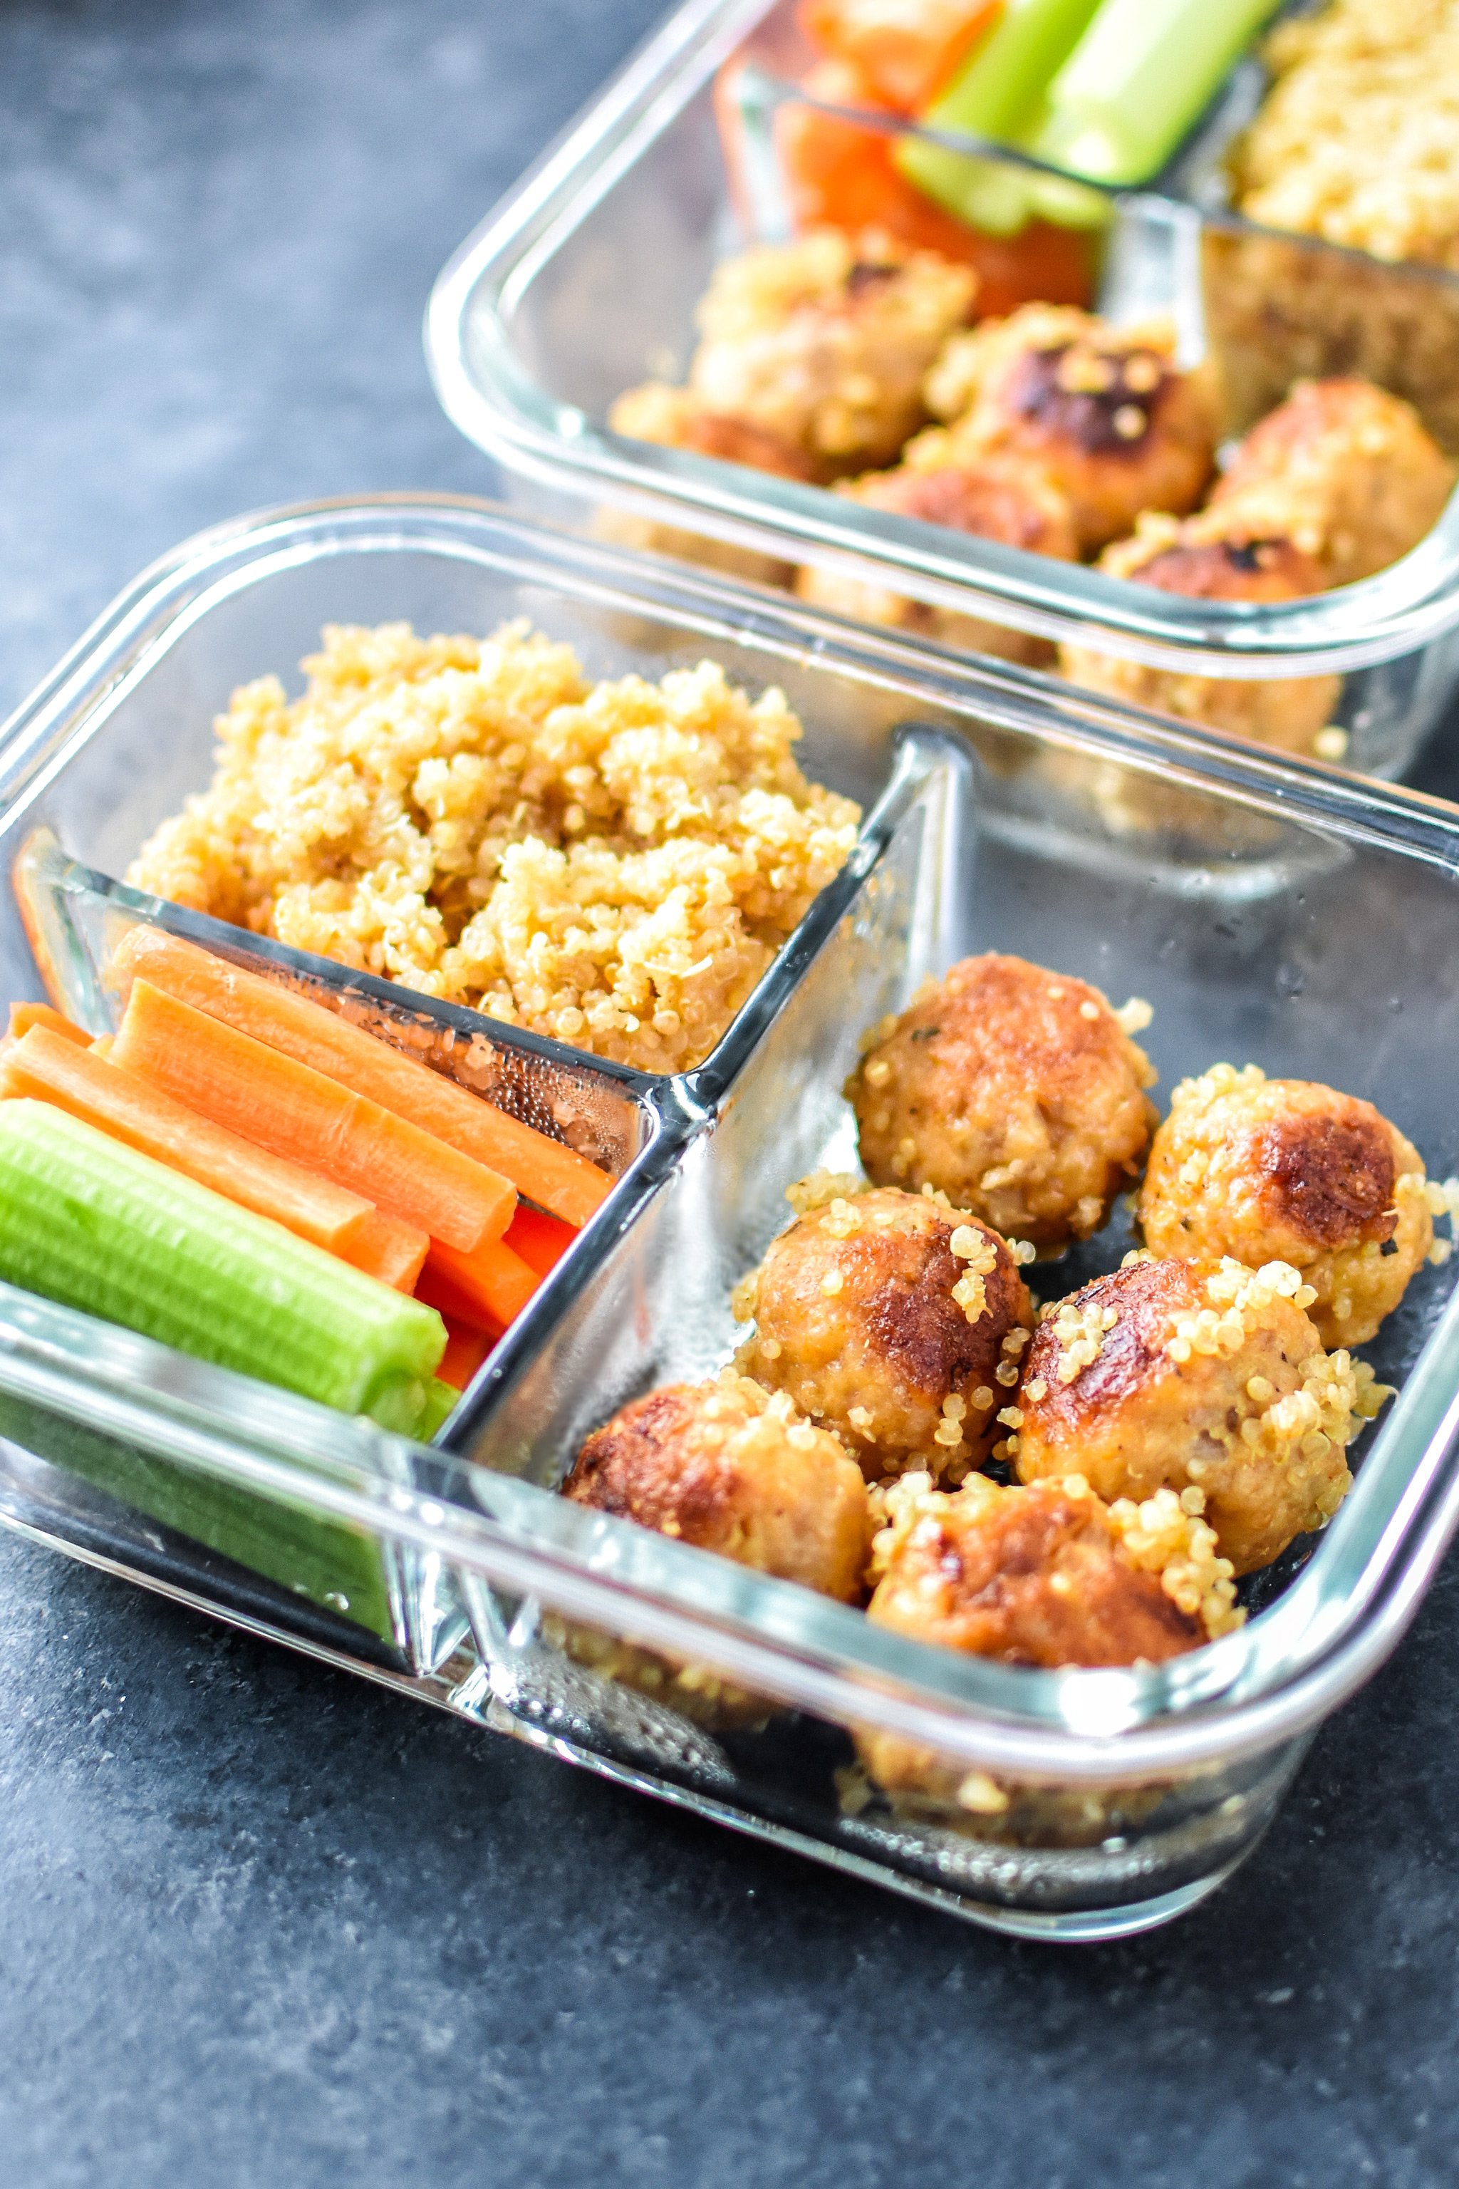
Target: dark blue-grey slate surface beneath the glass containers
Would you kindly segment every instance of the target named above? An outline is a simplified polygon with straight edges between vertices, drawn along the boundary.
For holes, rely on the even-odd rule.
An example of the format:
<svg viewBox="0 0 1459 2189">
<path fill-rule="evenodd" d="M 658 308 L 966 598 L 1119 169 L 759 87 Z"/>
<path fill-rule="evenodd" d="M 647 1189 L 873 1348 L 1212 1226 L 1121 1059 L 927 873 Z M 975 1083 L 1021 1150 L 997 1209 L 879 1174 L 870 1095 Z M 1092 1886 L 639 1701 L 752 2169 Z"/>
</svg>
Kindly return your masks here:
<svg viewBox="0 0 1459 2189">
<path fill-rule="evenodd" d="M 431 276 L 652 13 L 0 11 L 4 705 L 195 525 L 490 486 Z M 1457 1633 L 1450 1576 L 1214 1902 L 1059 1953 L 4 1539 L 0 2178 L 1448 2182 Z"/>
</svg>

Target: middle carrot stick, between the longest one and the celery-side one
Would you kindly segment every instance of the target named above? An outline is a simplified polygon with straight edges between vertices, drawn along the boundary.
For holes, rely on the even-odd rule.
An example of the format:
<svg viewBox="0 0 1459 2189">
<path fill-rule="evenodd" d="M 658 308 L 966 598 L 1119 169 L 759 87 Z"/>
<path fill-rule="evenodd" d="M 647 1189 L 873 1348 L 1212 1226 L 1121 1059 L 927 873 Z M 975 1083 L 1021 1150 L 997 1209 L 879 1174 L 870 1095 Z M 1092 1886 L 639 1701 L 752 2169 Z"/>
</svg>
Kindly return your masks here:
<svg viewBox="0 0 1459 2189">
<path fill-rule="evenodd" d="M 516 1191 L 497 1171 L 151 981 L 131 983 L 112 1057 L 217 1125 L 464 1252 L 499 1239 L 512 1219 Z"/>
</svg>

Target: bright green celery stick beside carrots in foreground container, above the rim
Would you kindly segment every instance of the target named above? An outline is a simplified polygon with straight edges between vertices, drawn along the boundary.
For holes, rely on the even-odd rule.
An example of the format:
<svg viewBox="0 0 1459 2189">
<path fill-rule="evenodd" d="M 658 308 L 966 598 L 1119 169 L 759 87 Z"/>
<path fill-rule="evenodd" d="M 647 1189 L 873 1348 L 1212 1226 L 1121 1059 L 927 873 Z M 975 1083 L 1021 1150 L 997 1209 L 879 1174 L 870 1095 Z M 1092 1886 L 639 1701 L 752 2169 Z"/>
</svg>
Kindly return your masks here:
<svg viewBox="0 0 1459 2189">
<path fill-rule="evenodd" d="M 0 1276 L 389 1429 L 446 1346 L 435 1309 L 42 1101 L 0 1101 Z"/>
</svg>

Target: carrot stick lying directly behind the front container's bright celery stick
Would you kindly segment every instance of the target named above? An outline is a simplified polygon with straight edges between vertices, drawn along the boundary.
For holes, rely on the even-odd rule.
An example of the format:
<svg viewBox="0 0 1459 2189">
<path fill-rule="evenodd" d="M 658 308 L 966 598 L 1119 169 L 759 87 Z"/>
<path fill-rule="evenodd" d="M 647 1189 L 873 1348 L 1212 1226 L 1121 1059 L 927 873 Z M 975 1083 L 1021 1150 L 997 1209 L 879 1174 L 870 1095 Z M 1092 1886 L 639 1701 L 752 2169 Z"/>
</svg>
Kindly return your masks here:
<svg viewBox="0 0 1459 2189">
<path fill-rule="evenodd" d="M 92 1049 L 77 1049 L 46 1024 L 31 1027 L 7 1051 L 0 1062 L 0 1094 L 35 1094 L 57 1110 L 70 1110 L 109 1138 L 166 1162 L 199 1186 L 212 1186 L 254 1215 L 273 1217 L 284 1230 L 346 1261 L 357 1259 L 354 1246 L 374 1217 L 363 1195 L 346 1193 L 295 1162 L 280 1162 L 120 1064 L 107 1064 Z"/>
</svg>

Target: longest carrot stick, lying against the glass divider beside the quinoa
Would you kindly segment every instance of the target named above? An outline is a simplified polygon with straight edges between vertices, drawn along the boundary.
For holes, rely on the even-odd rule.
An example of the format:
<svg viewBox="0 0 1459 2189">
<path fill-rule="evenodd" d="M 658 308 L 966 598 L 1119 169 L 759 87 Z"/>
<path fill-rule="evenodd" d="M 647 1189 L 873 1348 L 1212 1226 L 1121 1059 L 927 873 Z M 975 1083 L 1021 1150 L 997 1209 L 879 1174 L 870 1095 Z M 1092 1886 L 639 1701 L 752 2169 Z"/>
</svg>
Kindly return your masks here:
<svg viewBox="0 0 1459 2189">
<path fill-rule="evenodd" d="M 230 965 L 197 943 L 184 943 L 162 928 L 131 928 L 116 948 L 109 978 L 125 996 L 138 974 L 210 1018 L 308 1064 L 381 1110 L 392 1110 L 462 1156 L 501 1171 L 567 1224 L 586 1224 L 612 1191 L 606 1171 L 571 1147 L 507 1116 L 486 1097 L 433 1073 L 429 1064 L 400 1055 L 389 1042 L 352 1027 L 308 996 Z"/>
</svg>

